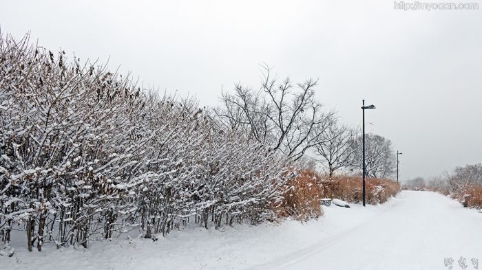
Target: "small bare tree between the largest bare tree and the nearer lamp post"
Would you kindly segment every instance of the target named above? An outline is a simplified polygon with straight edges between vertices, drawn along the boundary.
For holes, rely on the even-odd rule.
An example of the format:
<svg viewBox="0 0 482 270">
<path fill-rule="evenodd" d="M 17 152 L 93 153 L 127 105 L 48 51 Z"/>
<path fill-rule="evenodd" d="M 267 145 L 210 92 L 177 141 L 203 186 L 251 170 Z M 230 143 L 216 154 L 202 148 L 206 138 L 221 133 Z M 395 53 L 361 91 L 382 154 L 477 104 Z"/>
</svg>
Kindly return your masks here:
<svg viewBox="0 0 482 270">
<path fill-rule="evenodd" d="M 352 155 L 357 150 L 355 144 L 356 131 L 347 126 L 333 123 L 325 128 L 322 134 L 324 139 L 317 144 L 317 154 L 322 156 L 322 164 L 328 169 L 329 177 L 340 168 L 350 166 Z"/>
</svg>

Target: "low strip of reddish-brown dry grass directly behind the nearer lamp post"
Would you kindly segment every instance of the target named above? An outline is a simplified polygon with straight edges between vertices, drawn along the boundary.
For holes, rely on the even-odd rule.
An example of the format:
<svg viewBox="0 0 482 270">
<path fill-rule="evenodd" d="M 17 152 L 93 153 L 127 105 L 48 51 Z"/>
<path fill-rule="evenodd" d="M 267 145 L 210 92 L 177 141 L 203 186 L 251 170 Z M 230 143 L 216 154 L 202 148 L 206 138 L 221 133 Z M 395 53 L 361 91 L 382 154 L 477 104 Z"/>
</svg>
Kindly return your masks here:
<svg viewBox="0 0 482 270">
<path fill-rule="evenodd" d="M 348 203 L 360 203 L 363 196 L 362 177 L 332 177 L 322 183 L 323 196 L 337 198 Z M 366 202 L 384 203 L 400 190 L 400 185 L 388 179 L 366 179 Z"/>
</svg>

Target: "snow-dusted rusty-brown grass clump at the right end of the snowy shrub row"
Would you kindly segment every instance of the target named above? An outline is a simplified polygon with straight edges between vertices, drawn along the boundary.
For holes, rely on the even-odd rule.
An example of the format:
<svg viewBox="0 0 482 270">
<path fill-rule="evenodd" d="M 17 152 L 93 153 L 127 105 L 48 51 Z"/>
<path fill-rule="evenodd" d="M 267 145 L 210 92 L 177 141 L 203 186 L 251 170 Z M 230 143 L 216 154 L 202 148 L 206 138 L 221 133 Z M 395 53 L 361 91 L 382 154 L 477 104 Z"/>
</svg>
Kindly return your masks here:
<svg viewBox="0 0 482 270">
<path fill-rule="evenodd" d="M 279 215 L 291 216 L 298 221 L 322 216 L 322 188 L 319 186 L 319 179 L 319 175 L 313 170 L 303 170 L 300 175 L 288 181 L 288 191 L 277 207 Z"/>
</svg>

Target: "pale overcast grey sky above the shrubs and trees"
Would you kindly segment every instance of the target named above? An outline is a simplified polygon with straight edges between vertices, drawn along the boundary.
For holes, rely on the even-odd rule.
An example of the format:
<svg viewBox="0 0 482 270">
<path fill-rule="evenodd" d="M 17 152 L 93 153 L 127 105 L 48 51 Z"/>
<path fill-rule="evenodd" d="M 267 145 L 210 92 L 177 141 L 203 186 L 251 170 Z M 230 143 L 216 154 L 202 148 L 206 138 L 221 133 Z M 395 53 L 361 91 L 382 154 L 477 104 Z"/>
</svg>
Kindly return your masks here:
<svg viewBox="0 0 482 270">
<path fill-rule="evenodd" d="M 482 6 L 1 1 L 0 27 L 19 38 L 30 31 L 70 56 L 110 57 L 112 69 L 211 106 L 236 82 L 258 86 L 259 63 L 296 81 L 319 78 L 317 98 L 346 124 L 361 125 L 362 99 L 377 106 L 367 111 L 367 131 L 404 152 L 402 180 L 482 162 Z"/>
</svg>

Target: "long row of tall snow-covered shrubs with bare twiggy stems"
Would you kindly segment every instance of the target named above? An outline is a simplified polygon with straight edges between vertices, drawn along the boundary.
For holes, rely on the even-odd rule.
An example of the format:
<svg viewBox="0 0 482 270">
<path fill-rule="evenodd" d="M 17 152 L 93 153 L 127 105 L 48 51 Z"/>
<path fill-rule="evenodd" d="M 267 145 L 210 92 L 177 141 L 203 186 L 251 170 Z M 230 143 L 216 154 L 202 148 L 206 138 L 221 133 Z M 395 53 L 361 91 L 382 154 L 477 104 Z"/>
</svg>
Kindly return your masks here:
<svg viewBox="0 0 482 270">
<path fill-rule="evenodd" d="M 217 119 L 196 100 L 2 36 L 1 240 L 21 227 L 40 251 L 273 218 L 289 159 Z"/>
</svg>

